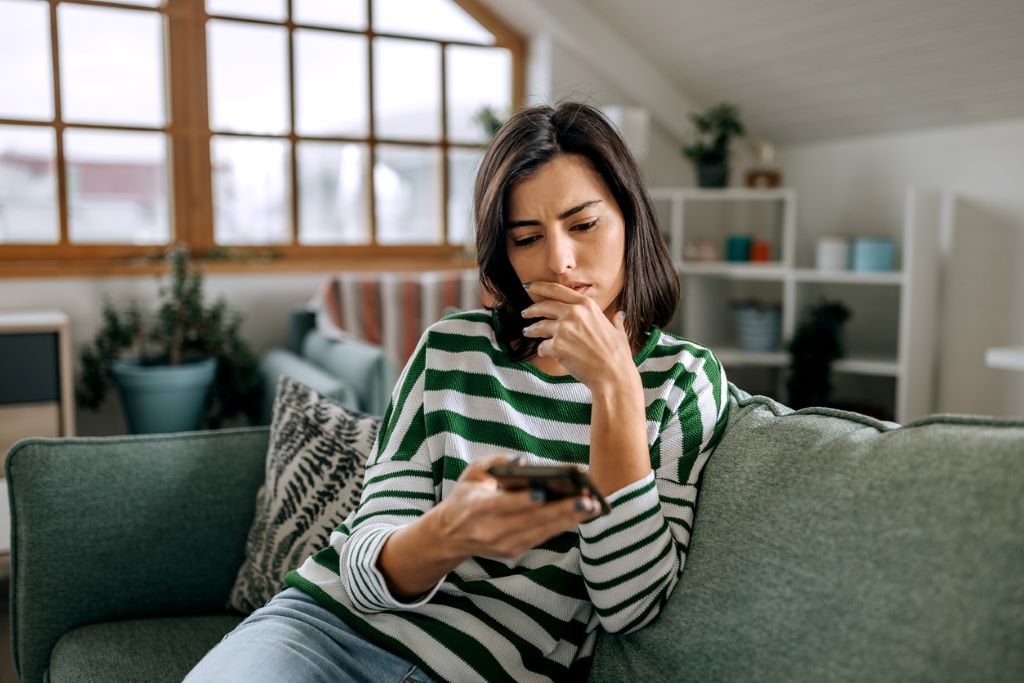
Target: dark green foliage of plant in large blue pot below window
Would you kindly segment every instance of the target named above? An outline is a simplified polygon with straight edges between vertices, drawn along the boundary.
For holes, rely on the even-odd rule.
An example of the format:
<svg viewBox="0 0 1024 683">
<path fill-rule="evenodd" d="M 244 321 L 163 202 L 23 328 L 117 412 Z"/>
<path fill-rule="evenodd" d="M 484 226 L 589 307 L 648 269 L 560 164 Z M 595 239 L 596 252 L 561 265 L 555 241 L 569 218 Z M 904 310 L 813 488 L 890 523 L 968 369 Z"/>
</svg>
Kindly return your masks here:
<svg viewBox="0 0 1024 683">
<path fill-rule="evenodd" d="M 118 359 L 140 365 L 179 365 L 217 358 L 217 377 L 207 402 L 206 426 L 244 415 L 256 421 L 262 381 L 256 355 L 242 339 L 242 316 L 219 299 L 203 301 L 203 274 L 183 246 L 167 254 L 169 282 L 161 286 L 155 315 L 146 319 L 137 303 L 119 310 L 103 303 L 102 324 L 92 344 L 81 352 L 82 373 L 76 386 L 78 402 L 96 409 L 110 390 L 111 366 Z"/>
</svg>

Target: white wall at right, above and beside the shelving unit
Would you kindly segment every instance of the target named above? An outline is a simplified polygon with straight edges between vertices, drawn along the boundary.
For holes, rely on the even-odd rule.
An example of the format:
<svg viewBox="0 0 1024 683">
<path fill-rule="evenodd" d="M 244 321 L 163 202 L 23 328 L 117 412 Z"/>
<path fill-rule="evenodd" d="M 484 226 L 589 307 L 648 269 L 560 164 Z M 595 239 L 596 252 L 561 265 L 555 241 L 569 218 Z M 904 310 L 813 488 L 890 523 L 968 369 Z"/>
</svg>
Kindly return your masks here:
<svg viewBox="0 0 1024 683">
<path fill-rule="evenodd" d="M 779 161 L 811 233 L 895 234 L 907 186 L 957 195 L 935 410 L 1024 416 L 1024 373 L 984 365 L 987 347 L 1024 345 L 1024 120 L 790 145 Z"/>
</svg>

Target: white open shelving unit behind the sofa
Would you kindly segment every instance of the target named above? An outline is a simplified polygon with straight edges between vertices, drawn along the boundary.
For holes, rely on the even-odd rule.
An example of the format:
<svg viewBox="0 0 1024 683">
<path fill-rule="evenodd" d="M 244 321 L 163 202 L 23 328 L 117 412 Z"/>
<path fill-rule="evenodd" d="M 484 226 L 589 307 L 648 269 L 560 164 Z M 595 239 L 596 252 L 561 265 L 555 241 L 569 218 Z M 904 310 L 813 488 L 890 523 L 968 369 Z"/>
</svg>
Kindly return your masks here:
<svg viewBox="0 0 1024 683">
<path fill-rule="evenodd" d="M 934 190 L 906 191 L 902 225 L 894 236 L 897 270 L 856 272 L 818 270 L 798 264 L 798 244 L 813 246 L 816 236 L 797 226 L 797 194 L 778 189 L 651 189 L 663 229 L 679 272 L 683 301 L 675 332 L 711 347 L 726 371 L 768 369 L 781 389 L 793 338 L 808 304 L 818 296 L 840 299 L 853 311 L 847 324 L 847 356 L 836 361 L 837 377 L 874 382 L 874 394 L 906 422 L 932 412 L 935 332 L 937 330 L 938 236 L 951 220 L 952 202 Z M 722 246 L 730 233 L 746 233 L 772 244 L 773 260 L 735 263 L 688 261 L 690 240 L 711 239 Z M 806 253 L 803 249 L 800 253 Z M 778 350 L 739 348 L 733 299 L 756 299 L 781 306 Z M 837 382 L 839 384 L 839 382 Z M 842 390 L 837 390 L 843 399 Z"/>
</svg>

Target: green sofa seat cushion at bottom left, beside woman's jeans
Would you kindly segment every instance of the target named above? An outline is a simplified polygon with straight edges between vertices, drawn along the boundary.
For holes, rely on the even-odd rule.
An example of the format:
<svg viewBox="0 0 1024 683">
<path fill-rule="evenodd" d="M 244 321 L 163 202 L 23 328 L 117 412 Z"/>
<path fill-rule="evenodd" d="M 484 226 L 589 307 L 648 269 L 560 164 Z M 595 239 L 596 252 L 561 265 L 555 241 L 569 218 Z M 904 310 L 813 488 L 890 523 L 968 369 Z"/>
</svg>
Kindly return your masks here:
<svg viewBox="0 0 1024 683">
<path fill-rule="evenodd" d="M 91 624 L 69 631 L 50 655 L 50 683 L 179 683 L 241 616 L 181 616 Z"/>
</svg>

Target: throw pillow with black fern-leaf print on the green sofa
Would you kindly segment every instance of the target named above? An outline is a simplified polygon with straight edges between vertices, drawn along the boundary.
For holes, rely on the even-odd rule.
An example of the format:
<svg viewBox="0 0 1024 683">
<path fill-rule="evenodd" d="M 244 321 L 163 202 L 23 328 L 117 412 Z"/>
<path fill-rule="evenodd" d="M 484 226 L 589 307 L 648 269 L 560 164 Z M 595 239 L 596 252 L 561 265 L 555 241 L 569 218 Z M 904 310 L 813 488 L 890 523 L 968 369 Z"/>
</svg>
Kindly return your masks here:
<svg viewBox="0 0 1024 683">
<path fill-rule="evenodd" d="M 290 377 L 278 382 L 266 478 L 246 558 L 228 598 L 249 613 L 284 588 L 285 574 L 328 544 L 358 504 L 380 418 L 317 394 Z"/>
</svg>

